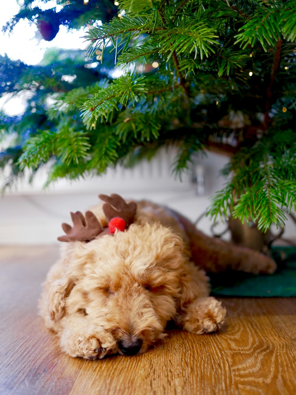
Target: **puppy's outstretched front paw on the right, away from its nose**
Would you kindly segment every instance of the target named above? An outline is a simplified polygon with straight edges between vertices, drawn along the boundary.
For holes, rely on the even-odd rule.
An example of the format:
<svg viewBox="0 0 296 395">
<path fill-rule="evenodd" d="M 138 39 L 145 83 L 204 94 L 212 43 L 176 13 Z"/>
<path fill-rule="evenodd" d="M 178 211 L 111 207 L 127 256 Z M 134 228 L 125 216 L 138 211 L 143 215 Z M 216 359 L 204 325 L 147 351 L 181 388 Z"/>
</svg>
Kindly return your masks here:
<svg viewBox="0 0 296 395">
<path fill-rule="evenodd" d="M 214 297 L 197 298 L 186 309 L 183 329 L 201 335 L 214 332 L 224 324 L 226 309 Z"/>
</svg>

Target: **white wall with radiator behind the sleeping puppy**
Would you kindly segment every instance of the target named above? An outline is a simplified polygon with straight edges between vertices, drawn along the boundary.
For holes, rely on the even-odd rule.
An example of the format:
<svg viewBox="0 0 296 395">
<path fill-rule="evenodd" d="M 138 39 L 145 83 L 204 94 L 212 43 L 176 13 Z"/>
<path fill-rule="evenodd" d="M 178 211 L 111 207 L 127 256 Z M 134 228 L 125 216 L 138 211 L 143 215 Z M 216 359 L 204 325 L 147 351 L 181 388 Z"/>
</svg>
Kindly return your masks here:
<svg viewBox="0 0 296 395">
<path fill-rule="evenodd" d="M 0 244 L 58 243 L 56 238 L 63 234 L 61 223 L 71 223 L 69 212 L 85 211 L 99 202 L 97 195 L 100 193 L 149 199 L 168 205 L 195 221 L 209 205 L 209 197 L 222 188 L 225 179 L 219 177 L 218 172 L 227 163 L 227 158 L 213 153 L 208 153 L 206 158 L 197 158 L 197 188 L 192 182 L 191 171 L 182 177 L 182 182 L 173 177 L 171 163 L 174 157 L 175 152 L 163 150 L 154 160 L 143 162 L 135 169 L 110 169 L 101 177 L 72 183 L 61 180 L 47 190 L 42 190 L 46 171 L 38 175 L 32 186 L 20 182 L 17 189 L 0 197 Z M 210 224 L 209 219 L 203 218 L 200 227 L 210 234 Z M 223 227 L 221 225 L 220 229 Z M 290 224 L 286 233 L 295 237 L 295 226 Z"/>
</svg>

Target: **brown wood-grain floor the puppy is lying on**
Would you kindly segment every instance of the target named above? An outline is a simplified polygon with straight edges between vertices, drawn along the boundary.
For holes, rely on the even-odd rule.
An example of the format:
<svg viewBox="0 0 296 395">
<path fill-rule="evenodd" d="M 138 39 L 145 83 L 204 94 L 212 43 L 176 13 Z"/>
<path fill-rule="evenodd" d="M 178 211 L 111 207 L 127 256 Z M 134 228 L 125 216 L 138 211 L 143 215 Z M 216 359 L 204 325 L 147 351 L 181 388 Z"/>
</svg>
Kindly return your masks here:
<svg viewBox="0 0 296 395">
<path fill-rule="evenodd" d="M 296 394 L 296 300 L 223 299 L 220 333 L 169 331 L 149 352 L 61 353 L 37 316 L 56 246 L 0 247 L 0 394 Z"/>
</svg>

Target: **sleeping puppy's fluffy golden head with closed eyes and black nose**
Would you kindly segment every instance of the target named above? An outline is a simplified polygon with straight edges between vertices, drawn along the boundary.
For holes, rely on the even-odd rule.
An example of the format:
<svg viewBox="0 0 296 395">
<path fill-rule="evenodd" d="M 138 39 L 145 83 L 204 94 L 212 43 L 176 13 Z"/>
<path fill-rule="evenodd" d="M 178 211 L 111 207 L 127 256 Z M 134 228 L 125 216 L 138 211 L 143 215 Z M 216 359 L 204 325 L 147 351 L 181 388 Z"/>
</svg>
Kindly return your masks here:
<svg viewBox="0 0 296 395">
<path fill-rule="evenodd" d="M 55 319 L 87 316 L 112 334 L 119 353 L 142 353 L 176 314 L 185 254 L 182 239 L 159 224 L 71 243 L 64 264 L 74 286 Z"/>
</svg>

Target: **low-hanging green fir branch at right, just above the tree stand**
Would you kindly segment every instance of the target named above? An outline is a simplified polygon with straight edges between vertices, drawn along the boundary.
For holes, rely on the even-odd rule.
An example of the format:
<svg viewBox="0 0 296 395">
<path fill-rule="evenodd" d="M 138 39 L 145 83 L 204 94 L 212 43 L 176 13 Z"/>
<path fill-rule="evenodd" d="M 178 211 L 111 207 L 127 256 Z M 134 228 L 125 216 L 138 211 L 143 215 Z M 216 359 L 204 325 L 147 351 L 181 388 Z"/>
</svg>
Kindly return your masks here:
<svg viewBox="0 0 296 395">
<path fill-rule="evenodd" d="M 284 225 L 283 209 L 296 208 L 296 165 L 288 165 L 294 162 L 296 143 L 291 130 L 285 133 L 285 141 L 281 131 L 274 131 L 251 149 L 237 152 L 226 171 L 234 171 L 234 177 L 212 199 L 210 216 L 250 218 L 263 231 L 272 223 Z"/>
</svg>

